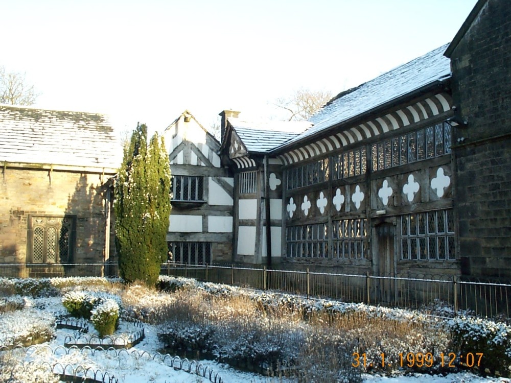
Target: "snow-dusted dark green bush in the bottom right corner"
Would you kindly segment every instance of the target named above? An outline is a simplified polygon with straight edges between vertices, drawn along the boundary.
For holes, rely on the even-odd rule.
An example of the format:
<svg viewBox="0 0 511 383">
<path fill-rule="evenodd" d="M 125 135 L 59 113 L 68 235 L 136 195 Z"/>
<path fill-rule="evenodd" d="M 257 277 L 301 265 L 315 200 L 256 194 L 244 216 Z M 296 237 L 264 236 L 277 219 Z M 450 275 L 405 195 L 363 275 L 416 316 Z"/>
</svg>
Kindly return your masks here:
<svg viewBox="0 0 511 383">
<path fill-rule="evenodd" d="M 460 355 L 466 357 L 467 353 L 472 353 L 482 371 L 489 369 L 492 373 L 511 375 L 511 326 L 473 317 L 454 318 L 450 326 L 454 347 L 459 349 Z M 477 353 L 482 353 L 480 360 Z"/>
</svg>

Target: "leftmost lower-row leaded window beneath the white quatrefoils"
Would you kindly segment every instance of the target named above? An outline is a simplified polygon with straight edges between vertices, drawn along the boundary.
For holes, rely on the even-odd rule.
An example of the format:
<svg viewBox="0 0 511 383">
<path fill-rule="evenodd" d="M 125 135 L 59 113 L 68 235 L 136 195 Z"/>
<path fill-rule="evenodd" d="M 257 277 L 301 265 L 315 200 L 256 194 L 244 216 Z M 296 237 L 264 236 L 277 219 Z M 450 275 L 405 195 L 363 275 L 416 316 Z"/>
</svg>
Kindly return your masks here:
<svg viewBox="0 0 511 383">
<path fill-rule="evenodd" d="M 288 226 L 286 242 L 288 257 L 328 257 L 328 224 Z"/>
</svg>

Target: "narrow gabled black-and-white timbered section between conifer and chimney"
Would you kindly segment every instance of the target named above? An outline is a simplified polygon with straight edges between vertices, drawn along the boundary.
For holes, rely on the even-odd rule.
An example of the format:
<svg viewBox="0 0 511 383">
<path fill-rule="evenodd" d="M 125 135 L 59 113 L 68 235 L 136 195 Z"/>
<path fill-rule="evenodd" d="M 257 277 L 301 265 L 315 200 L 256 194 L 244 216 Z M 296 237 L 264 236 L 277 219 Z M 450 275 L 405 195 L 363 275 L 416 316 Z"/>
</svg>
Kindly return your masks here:
<svg viewBox="0 0 511 383">
<path fill-rule="evenodd" d="M 163 136 L 172 174 L 169 260 L 189 265 L 230 261 L 234 180 L 220 163 L 220 143 L 189 111 Z"/>
</svg>

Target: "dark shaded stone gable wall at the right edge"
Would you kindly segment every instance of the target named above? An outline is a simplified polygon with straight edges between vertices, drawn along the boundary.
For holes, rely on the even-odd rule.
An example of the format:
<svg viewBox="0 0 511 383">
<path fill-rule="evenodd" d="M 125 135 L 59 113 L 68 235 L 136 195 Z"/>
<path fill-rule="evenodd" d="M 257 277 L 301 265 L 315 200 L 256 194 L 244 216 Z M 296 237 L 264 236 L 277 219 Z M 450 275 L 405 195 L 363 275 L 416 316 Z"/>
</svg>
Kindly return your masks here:
<svg viewBox="0 0 511 383">
<path fill-rule="evenodd" d="M 511 7 L 489 0 L 451 54 L 461 273 L 511 277 Z"/>
</svg>

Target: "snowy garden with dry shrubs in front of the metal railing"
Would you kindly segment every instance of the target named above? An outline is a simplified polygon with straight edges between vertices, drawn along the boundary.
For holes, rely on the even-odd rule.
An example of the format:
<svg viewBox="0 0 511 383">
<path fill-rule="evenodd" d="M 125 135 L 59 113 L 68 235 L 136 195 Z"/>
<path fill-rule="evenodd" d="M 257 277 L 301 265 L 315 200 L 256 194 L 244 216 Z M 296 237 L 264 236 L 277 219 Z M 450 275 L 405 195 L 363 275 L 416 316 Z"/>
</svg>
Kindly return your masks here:
<svg viewBox="0 0 511 383">
<path fill-rule="evenodd" d="M 457 326 L 458 338 L 470 334 L 476 346 L 490 339 L 494 352 L 508 352 L 511 332 L 504 324 L 446 321 L 408 310 L 305 300 L 184 278 L 161 277 L 160 288 L 167 291 L 103 278 L 0 278 L 0 345 L 26 347 L 0 352 L 0 381 L 58 381 L 48 374 L 50 366 L 57 366 L 55 371 L 83 366 L 83 370 L 90 369 L 87 376 L 100 370 L 97 376 L 104 374 L 106 380 L 114 376 L 120 382 L 214 381 L 209 378 L 210 371 L 224 382 L 509 381 L 448 367 L 448 353 L 458 352 L 452 349 L 448 328 Z M 62 296 L 71 292 L 119 304 L 122 314 L 112 335 L 114 343 L 132 339 L 138 329 L 130 322 L 133 320 L 144 322 L 144 339 L 129 350 L 65 348 L 69 340 L 97 343 L 99 339 L 87 320 L 83 320 L 87 333 L 56 328 L 56 318 L 66 314 Z M 445 312 L 445 307 L 442 310 Z M 172 357 L 165 357 L 168 352 L 201 358 L 197 364 L 201 371 L 207 367 L 207 377 L 176 371 L 169 366 Z M 423 356 L 427 352 L 431 352 L 431 360 Z M 441 352 L 446 354 L 444 368 L 440 368 Z M 408 354 L 413 354 L 413 362 Z M 424 364 L 429 362 L 432 366 L 427 369 Z M 453 365 L 458 363 L 459 357 Z M 284 377 L 241 372 L 229 364 L 273 369 Z M 357 364 L 358 368 L 352 367 Z M 504 366 L 501 369 L 508 373 Z"/>
</svg>

